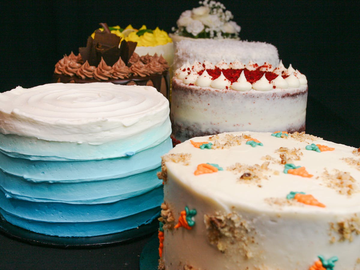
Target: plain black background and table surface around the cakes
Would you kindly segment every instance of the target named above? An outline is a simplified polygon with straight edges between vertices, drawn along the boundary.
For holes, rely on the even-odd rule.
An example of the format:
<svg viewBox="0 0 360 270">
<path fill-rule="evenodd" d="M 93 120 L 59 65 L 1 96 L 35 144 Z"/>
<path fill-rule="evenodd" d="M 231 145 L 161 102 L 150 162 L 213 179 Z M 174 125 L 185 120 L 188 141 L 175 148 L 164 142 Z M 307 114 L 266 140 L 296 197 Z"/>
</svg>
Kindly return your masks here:
<svg viewBox="0 0 360 270">
<path fill-rule="evenodd" d="M 360 147 L 359 113 L 359 1 L 222 1 L 241 26 L 240 37 L 265 41 L 278 48 L 285 67 L 306 75 L 309 85 L 306 131 L 354 147 Z M 50 82 L 54 65 L 63 54 L 78 53 L 87 37 L 99 27 L 135 28 L 146 24 L 167 32 L 181 12 L 198 1 L 13 1 L 1 5 L 0 91 L 21 85 Z M 1 236 L 2 237 L 2 236 Z M 0 265 L 14 265 L 12 248 L 0 251 Z M 5 242 L 3 244 L 5 244 Z M 139 245 L 144 241 L 140 241 Z M 1 248 L 4 249 L 4 246 Z M 39 249 L 22 244 L 20 258 L 30 268 L 53 260 L 53 268 L 136 269 L 139 251 L 118 245 L 91 250 Z M 5 252 L 5 253 L 4 253 Z M 25 253 L 24 253 L 25 252 Z M 36 253 L 44 252 L 43 258 Z M 50 254 L 57 253 L 59 257 Z M 55 256 L 55 257 L 54 257 Z M 6 257 L 6 258 L 5 258 Z M 72 260 L 75 260 L 72 262 Z M 97 262 L 95 262 L 97 261 Z M 73 263 L 73 264 L 72 264 Z M 25 265 L 23 265 L 25 266 Z M 48 265 L 50 267 L 50 265 Z M 40 269 L 48 268 L 41 266 Z M 128 267 L 128 268 L 127 268 Z"/>
</svg>

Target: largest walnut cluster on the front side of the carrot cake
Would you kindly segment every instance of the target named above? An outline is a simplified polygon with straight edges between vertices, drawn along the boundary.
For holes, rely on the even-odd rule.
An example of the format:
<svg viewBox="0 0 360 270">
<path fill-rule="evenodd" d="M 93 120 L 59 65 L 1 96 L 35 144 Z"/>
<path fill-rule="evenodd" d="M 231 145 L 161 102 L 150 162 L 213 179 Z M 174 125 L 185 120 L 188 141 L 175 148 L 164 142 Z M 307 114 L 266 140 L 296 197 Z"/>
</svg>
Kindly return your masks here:
<svg viewBox="0 0 360 270">
<path fill-rule="evenodd" d="M 237 245 L 240 254 L 245 258 L 255 256 L 251 251 L 255 241 L 255 229 L 252 222 L 244 220 L 237 213 L 204 215 L 207 237 L 210 244 L 217 247 L 221 253 L 226 253 L 228 246 Z"/>
</svg>

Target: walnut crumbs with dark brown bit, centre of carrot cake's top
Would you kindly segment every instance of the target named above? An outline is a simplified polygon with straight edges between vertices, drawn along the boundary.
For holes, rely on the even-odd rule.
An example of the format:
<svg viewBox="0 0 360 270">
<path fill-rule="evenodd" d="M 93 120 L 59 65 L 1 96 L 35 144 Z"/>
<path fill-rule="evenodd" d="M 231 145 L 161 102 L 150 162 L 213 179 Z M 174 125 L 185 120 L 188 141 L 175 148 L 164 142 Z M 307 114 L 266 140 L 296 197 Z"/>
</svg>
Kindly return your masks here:
<svg viewBox="0 0 360 270">
<path fill-rule="evenodd" d="M 239 177 L 240 182 L 246 181 L 246 183 L 253 182 L 259 184 L 261 179 L 268 179 L 268 174 L 265 174 L 265 172 L 270 171 L 268 166 L 269 161 L 265 161 L 261 166 L 258 164 L 251 166 L 235 163 L 234 165 L 227 167 L 226 170 L 232 171 L 235 174 L 241 173 L 241 176 Z"/>
</svg>

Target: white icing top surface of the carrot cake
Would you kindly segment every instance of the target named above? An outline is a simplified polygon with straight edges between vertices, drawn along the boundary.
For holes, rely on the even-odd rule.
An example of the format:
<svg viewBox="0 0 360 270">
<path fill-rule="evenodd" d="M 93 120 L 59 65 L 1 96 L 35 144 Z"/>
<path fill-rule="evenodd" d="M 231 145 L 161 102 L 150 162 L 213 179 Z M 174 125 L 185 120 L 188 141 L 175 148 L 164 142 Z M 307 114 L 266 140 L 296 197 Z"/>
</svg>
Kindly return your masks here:
<svg viewBox="0 0 360 270">
<path fill-rule="evenodd" d="M 360 211 L 360 154 L 357 153 L 357 149 L 325 141 L 321 138 L 315 137 L 312 140 L 309 135 L 301 136 L 303 141 L 292 138 L 290 134 L 287 138 L 277 138 L 272 136 L 271 132 L 231 132 L 220 134 L 220 139 L 216 139 L 215 136 L 213 139 L 209 139 L 210 136 L 204 136 L 192 140 L 194 142 L 209 142 L 214 145 L 216 140 L 220 143 L 234 141 L 226 138 L 226 134 L 248 135 L 260 141 L 263 146 L 252 147 L 246 144 L 248 137 L 244 138 L 244 136 L 240 139 L 240 145 L 235 143 L 235 146 L 224 149 L 195 148 L 188 140 L 177 145 L 169 153 L 190 153 L 189 165 L 184 165 L 182 162 L 167 161 L 165 164 L 168 176 L 171 179 L 177 179 L 195 193 L 215 200 L 229 212 L 236 208 L 281 212 L 288 215 L 297 215 L 297 213 L 341 215 Z M 335 149 L 323 152 L 305 149 L 307 145 L 312 143 Z M 289 150 L 298 149 L 297 154 L 300 160 L 296 160 L 297 158 L 287 154 L 288 158 L 292 158 L 290 163 L 305 167 L 305 170 L 313 176 L 308 178 L 284 173 L 285 166 L 280 163 L 281 158 L 278 151 L 280 147 L 286 147 Z M 349 159 L 355 160 L 357 163 L 350 164 Z M 255 164 L 261 166 L 267 161 L 269 161 L 269 170 L 260 170 L 260 173 L 255 172 L 258 179 L 256 177 L 250 180 L 240 178 L 247 172 L 254 175 L 254 172 L 249 169 L 239 171 L 230 169 L 230 166 L 237 163 L 246 166 Z M 217 164 L 223 170 L 210 174 L 194 175 L 197 166 L 201 163 Z M 352 178 L 346 180 L 346 176 L 339 176 L 339 174 L 344 173 Z M 311 194 L 320 203 L 325 204 L 325 207 L 303 204 L 295 199 L 291 199 L 292 203 L 288 203 L 287 195 L 290 192 Z M 280 202 L 280 204 L 270 203 L 275 201 Z"/>
</svg>

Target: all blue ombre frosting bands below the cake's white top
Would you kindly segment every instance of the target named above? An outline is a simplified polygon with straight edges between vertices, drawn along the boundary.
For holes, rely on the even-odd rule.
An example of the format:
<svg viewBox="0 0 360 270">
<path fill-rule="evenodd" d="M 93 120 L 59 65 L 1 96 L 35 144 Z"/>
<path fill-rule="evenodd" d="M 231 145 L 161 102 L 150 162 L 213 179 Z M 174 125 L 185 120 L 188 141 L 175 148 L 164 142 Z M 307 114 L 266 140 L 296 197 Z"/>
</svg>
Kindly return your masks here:
<svg viewBox="0 0 360 270">
<path fill-rule="evenodd" d="M 152 132 L 149 137 L 158 138 Z M 120 142 L 104 146 L 27 140 L 0 135 L 0 212 L 10 223 L 43 234 L 82 237 L 136 228 L 159 215 L 163 191 L 156 172 L 161 170 L 160 157 L 172 148 L 168 135 L 152 140 L 150 147 L 144 142 L 151 140 L 144 139 L 120 150 Z M 30 143 L 35 140 L 37 147 Z M 69 144 L 73 148 L 67 149 Z M 14 151 L 20 148 L 22 154 Z M 79 152 L 70 154 L 75 149 Z M 94 160 L 84 160 L 86 152 Z"/>
</svg>

